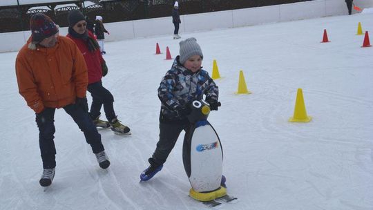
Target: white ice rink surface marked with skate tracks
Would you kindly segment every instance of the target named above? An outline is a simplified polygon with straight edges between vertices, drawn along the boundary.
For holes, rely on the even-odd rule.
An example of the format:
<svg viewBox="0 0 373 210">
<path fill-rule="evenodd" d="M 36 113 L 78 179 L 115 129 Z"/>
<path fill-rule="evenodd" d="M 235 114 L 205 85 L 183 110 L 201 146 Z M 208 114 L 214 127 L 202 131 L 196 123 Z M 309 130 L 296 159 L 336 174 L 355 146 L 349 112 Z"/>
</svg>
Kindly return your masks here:
<svg viewBox="0 0 373 210">
<path fill-rule="evenodd" d="M 367 13 L 181 35 L 196 37 L 204 68 L 211 73 L 216 59 L 222 77 L 222 106 L 209 121 L 224 148 L 228 193 L 240 200 L 218 209 L 373 209 L 373 47 L 361 48 L 358 22 L 373 32 Z M 329 43 L 320 43 L 324 29 Z M 172 64 L 166 46 L 175 57 L 179 41 L 169 35 L 106 43 L 104 86 L 133 135 L 99 131 L 112 163 L 104 171 L 73 120 L 57 111 L 57 168 L 46 191 L 39 186 L 35 114 L 18 94 L 17 53 L 2 53 L 0 209 L 204 209 L 188 196 L 184 133 L 163 170 L 139 182 L 157 142 L 157 88 Z M 156 43 L 162 55 L 155 55 Z M 251 95 L 234 94 L 239 70 Z M 297 88 L 311 122 L 287 122 Z"/>
</svg>

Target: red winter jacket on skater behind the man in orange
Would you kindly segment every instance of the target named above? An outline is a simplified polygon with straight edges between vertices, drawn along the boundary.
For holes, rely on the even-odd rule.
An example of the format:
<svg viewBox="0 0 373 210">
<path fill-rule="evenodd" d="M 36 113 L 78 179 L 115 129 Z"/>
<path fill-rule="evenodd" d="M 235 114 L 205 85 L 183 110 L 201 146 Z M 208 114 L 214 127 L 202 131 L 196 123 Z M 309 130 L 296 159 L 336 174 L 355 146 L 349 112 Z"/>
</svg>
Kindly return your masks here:
<svg viewBox="0 0 373 210">
<path fill-rule="evenodd" d="M 88 30 L 88 36 L 95 39 L 93 33 Z M 104 59 L 102 58 L 101 52 L 99 49 L 94 52 L 88 50 L 88 44 L 83 39 L 78 39 L 68 34 L 66 37 L 72 39 L 78 46 L 80 52 L 84 56 L 88 68 L 88 84 L 93 84 L 99 82 L 102 78 L 102 63 Z"/>
</svg>

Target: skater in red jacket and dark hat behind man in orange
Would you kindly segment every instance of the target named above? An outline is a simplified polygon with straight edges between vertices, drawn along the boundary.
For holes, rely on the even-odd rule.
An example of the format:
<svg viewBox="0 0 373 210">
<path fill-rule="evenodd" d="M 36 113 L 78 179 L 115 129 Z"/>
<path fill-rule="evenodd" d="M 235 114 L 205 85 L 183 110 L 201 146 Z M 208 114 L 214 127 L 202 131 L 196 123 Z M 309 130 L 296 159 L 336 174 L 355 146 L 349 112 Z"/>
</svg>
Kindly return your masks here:
<svg viewBox="0 0 373 210">
<path fill-rule="evenodd" d="M 111 130 L 120 134 L 131 134 L 130 128 L 117 120 L 114 111 L 114 97 L 109 90 L 102 86 L 102 77 L 108 73 L 108 67 L 99 51 L 99 45 L 93 33 L 86 29 L 86 19 L 79 10 L 68 13 L 68 35 L 77 44 L 84 56 L 88 67 L 88 92 L 92 95 L 90 117 L 96 126 L 111 127 Z M 108 121 L 99 120 L 100 110 L 104 105 L 104 112 Z"/>
</svg>

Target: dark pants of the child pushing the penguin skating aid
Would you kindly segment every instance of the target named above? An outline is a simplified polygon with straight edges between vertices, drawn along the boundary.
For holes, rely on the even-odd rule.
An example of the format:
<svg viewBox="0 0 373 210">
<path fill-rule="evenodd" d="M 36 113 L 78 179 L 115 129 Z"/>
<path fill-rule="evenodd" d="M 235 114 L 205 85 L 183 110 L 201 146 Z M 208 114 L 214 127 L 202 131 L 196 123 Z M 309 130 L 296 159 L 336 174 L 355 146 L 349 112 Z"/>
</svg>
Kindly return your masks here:
<svg viewBox="0 0 373 210">
<path fill-rule="evenodd" d="M 151 160 L 151 164 L 161 165 L 166 162 L 167 157 L 171 153 L 173 146 L 182 130 L 187 132 L 189 124 L 166 124 L 160 123 L 160 140 L 157 142 L 157 148 L 155 149 Z"/>
</svg>

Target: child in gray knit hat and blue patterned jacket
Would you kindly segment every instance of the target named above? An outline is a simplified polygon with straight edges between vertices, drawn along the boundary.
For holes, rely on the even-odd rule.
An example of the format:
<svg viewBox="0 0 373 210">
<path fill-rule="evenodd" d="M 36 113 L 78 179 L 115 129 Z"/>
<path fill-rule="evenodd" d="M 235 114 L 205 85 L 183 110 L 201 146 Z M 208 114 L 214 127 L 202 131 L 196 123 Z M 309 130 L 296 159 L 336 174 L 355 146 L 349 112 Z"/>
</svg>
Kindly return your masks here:
<svg viewBox="0 0 373 210">
<path fill-rule="evenodd" d="M 205 99 L 211 110 L 218 110 L 219 90 L 202 65 L 203 54 L 195 38 L 180 41 L 180 55 L 175 58 L 171 70 L 167 71 L 158 88 L 161 101 L 160 138 L 149 158 L 150 166 L 140 179 L 147 181 L 160 171 L 171 153 L 180 133 L 189 128 L 187 115 L 191 113 L 190 103 Z"/>
</svg>

